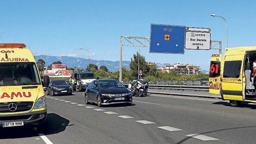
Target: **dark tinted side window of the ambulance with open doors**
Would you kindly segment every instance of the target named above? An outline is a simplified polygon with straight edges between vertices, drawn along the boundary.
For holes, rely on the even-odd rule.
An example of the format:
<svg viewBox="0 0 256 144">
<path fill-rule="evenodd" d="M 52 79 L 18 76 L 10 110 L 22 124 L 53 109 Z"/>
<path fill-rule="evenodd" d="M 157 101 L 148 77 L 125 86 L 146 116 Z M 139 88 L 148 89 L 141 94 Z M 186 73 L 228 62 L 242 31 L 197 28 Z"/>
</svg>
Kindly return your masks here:
<svg viewBox="0 0 256 144">
<path fill-rule="evenodd" d="M 223 77 L 239 78 L 242 61 L 225 61 Z"/>
</svg>

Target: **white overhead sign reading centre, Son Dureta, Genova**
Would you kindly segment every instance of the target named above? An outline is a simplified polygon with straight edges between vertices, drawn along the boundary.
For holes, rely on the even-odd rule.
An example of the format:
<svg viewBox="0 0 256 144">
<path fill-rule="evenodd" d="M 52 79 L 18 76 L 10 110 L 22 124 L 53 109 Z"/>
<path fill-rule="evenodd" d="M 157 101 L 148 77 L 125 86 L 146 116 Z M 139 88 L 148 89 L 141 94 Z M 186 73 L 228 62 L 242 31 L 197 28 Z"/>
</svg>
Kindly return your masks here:
<svg viewBox="0 0 256 144">
<path fill-rule="evenodd" d="M 187 28 L 186 30 L 186 49 L 209 50 L 211 48 L 211 29 Z"/>
</svg>

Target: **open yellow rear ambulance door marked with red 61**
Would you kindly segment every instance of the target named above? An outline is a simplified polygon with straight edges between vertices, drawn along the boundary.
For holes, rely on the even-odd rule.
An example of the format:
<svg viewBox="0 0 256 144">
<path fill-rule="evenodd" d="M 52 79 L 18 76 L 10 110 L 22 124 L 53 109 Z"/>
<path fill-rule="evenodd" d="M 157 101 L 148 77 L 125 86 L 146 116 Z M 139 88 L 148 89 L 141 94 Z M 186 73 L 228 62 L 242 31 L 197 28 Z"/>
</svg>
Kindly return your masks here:
<svg viewBox="0 0 256 144">
<path fill-rule="evenodd" d="M 211 54 L 209 71 L 209 93 L 219 94 L 221 90 L 221 54 Z"/>
</svg>

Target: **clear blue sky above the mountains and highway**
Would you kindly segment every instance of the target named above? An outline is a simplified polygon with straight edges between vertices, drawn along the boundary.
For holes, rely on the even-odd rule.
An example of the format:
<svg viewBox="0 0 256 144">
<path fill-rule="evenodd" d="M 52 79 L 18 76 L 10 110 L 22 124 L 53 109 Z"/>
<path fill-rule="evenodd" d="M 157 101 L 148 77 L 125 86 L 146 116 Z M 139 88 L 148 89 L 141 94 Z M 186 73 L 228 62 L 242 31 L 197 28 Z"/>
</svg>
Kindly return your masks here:
<svg viewBox="0 0 256 144">
<path fill-rule="evenodd" d="M 255 1 L 1 1 L 0 33 L 4 43 L 25 43 L 35 55 L 87 58 L 85 47 L 95 60 L 119 61 L 120 35 L 150 37 L 150 24 L 172 24 L 211 28 L 211 40 L 226 47 L 252 46 L 255 41 Z M 0 42 L 2 42 L 0 40 Z M 123 47 L 129 61 L 137 47 Z M 224 50 L 223 50 L 224 52 Z M 189 63 L 209 69 L 211 53 L 217 50 L 185 50 L 180 54 L 150 54 L 146 61 Z"/>
</svg>

